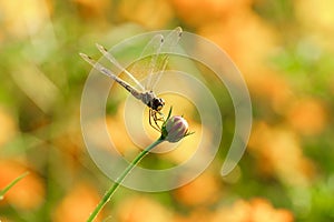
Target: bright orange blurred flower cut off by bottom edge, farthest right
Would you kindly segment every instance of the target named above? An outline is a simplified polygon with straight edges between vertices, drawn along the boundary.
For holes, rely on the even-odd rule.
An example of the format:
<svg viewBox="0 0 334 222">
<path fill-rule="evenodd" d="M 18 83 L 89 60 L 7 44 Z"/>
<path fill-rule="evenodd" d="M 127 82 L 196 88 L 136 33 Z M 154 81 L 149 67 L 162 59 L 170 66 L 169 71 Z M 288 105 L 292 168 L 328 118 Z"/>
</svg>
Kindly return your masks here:
<svg viewBox="0 0 334 222">
<path fill-rule="evenodd" d="M 254 199 L 249 202 L 236 201 L 230 208 L 219 210 L 212 222 L 293 222 L 292 212 L 274 209 L 265 199 Z"/>
</svg>

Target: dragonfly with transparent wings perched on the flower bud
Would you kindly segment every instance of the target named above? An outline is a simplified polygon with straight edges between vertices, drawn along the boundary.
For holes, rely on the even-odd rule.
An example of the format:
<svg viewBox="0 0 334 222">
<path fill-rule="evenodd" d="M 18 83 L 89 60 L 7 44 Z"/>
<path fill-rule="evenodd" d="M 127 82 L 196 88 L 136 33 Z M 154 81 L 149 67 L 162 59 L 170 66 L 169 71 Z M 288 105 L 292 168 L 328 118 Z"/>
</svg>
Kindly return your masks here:
<svg viewBox="0 0 334 222">
<path fill-rule="evenodd" d="M 164 114 L 161 109 L 165 107 L 165 101 L 161 98 L 158 98 L 155 92 L 154 88 L 161 78 L 167 63 L 168 63 L 168 53 L 171 52 L 174 48 L 177 47 L 180 38 L 181 38 L 183 30 L 180 27 L 176 28 L 175 30 L 170 31 L 167 37 L 165 38 L 163 34 L 156 34 L 153 39 L 146 44 L 144 48 L 140 58 L 145 58 L 149 56 L 149 60 L 141 70 L 145 71 L 146 84 L 143 85 L 139 80 L 137 80 L 131 71 L 128 71 L 124 68 L 117 59 L 108 52 L 108 50 L 96 44 L 97 49 L 102 53 L 104 57 L 117 69 L 120 70 L 120 73 L 125 73 L 132 82 L 136 83 L 137 88 L 120 79 L 110 69 L 106 68 L 105 65 L 100 64 L 99 62 L 95 61 L 91 57 L 79 53 L 81 58 L 90 63 L 94 69 L 99 71 L 100 73 L 111 78 L 122 88 L 125 88 L 132 97 L 137 100 L 140 100 L 144 104 L 149 108 L 149 124 L 157 131 L 161 131 L 161 127 L 158 122 L 164 122 Z M 140 65 L 138 62 L 134 64 L 131 70 L 136 70 L 136 67 Z"/>
</svg>

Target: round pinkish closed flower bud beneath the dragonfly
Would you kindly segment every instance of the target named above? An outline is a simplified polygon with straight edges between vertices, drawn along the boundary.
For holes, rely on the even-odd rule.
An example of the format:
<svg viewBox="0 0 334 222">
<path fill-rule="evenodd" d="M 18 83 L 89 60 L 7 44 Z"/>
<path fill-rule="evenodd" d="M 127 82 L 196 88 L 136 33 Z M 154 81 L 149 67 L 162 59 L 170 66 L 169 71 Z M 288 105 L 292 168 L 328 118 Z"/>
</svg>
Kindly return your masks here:
<svg viewBox="0 0 334 222">
<path fill-rule="evenodd" d="M 167 120 L 165 129 L 167 131 L 165 140 L 178 142 L 188 134 L 188 122 L 180 115 L 174 115 Z"/>
</svg>

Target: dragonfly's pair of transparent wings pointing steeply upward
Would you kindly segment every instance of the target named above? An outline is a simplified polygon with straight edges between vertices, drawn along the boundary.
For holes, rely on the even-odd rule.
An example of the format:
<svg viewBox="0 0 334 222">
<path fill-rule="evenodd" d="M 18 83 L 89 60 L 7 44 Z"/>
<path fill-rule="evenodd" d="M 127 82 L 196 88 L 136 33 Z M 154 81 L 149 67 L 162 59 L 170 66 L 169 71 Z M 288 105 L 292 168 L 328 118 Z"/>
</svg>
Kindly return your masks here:
<svg viewBox="0 0 334 222">
<path fill-rule="evenodd" d="M 177 46 L 181 36 L 181 28 L 176 28 L 166 38 L 163 34 L 155 36 L 144 48 L 140 61 L 130 69 L 131 73 L 145 73 L 145 89 L 153 90 L 166 69 L 168 53 Z"/>
</svg>

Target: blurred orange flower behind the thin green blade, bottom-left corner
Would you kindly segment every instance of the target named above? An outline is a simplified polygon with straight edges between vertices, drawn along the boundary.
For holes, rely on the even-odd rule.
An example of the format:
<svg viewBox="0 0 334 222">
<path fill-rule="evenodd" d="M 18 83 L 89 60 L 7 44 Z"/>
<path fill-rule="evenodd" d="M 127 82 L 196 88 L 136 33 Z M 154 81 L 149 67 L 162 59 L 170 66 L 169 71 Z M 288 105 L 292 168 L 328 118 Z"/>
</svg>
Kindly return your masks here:
<svg viewBox="0 0 334 222">
<path fill-rule="evenodd" d="M 17 176 L 29 171 L 27 167 L 19 162 L 0 161 L 0 189 L 8 185 Z M 23 210 L 37 209 L 43 203 L 45 188 L 41 179 L 33 172 L 19 181 L 4 194 L 4 200 L 16 208 Z"/>
</svg>

